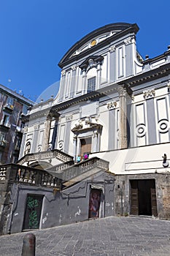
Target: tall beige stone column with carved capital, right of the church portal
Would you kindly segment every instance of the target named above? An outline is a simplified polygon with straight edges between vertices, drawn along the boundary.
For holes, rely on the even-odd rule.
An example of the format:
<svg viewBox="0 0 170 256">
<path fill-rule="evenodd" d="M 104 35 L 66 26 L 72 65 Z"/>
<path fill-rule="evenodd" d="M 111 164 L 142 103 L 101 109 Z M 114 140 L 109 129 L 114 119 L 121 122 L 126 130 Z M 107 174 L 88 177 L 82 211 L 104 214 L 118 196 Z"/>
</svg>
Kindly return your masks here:
<svg viewBox="0 0 170 256">
<path fill-rule="evenodd" d="M 127 106 L 126 95 L 127 92 L 123 86 L 119 86 L 117 89 L 119 93 L 119 105 L 120 105 L 120 118 L 119 118 L 119 148 L 127 148 Z"/>
</svg>

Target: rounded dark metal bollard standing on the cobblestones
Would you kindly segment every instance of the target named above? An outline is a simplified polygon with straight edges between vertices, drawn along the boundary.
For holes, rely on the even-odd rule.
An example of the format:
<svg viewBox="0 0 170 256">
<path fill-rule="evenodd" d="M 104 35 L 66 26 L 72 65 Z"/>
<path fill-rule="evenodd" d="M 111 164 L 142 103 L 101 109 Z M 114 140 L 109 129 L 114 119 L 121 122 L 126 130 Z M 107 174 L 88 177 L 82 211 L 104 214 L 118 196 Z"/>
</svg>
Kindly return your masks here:
<svg viewBox="0 0 170 256">
<path fill-rule="evenodd" d="M 35 256 L 36 251 L 36 236 L 34 234 L 27 234 L 23 238 L 23 249 L 21 256 Z"/>
</svg>

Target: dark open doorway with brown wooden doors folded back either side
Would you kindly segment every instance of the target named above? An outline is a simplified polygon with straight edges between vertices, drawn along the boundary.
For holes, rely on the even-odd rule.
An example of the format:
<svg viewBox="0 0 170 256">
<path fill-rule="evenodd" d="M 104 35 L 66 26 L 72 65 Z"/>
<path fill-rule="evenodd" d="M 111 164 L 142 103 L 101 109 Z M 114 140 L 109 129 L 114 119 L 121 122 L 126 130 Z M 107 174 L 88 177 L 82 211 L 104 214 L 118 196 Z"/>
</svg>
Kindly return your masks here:
<svg viewBox="0 0 170 256">
<path fill-rule="evenodd" d="M 155 179 L 131 180 L 131 214 L 157 216 Z"/>
</svg>

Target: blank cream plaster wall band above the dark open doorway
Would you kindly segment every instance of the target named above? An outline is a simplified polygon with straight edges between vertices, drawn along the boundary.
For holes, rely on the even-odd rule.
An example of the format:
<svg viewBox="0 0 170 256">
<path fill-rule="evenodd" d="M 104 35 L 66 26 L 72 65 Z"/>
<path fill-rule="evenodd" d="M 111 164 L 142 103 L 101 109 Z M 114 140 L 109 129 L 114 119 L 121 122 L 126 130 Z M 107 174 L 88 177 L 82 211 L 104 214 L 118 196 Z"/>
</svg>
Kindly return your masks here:
<svg viewBox="0 0 170 256">
<path fill-rule="evenodd" d="M 152 146 L 139 146 L 115 151 L 104 151 L 90 154 L 90 157 L 99 157 L 109 162 L 109 171 L 116 174 L 127 173 L 155 173 L 166 172 L 163 167 L 163 154 L 169 156 L 170 143 L 155 144 Z"/>
</svg>

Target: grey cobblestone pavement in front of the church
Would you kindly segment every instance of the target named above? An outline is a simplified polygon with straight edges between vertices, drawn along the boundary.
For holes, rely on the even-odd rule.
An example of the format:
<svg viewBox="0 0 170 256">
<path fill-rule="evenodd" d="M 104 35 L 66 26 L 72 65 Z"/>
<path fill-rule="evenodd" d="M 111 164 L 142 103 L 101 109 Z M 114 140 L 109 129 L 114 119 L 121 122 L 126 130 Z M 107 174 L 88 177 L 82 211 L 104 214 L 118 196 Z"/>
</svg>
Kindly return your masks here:
<svg viewBox="0 0 170 256">
<path fill-rule="evenodd" d="M 170 221 L 107 217 L 32 232 L 36 256 L 170 255 Z M 19 256 L 26 233 L 0 236 L 0 255 Z"/>
</svg>

